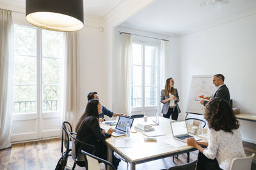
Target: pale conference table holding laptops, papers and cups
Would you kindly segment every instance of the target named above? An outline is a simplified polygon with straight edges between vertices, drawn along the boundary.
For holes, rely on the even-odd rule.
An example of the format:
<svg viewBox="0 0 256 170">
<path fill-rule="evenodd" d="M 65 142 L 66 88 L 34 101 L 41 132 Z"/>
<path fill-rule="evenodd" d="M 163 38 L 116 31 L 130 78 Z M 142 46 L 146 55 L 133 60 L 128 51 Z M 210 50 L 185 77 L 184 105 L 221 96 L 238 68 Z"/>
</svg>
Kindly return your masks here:
<svg viewBox="0 0 256 170">
<path fill-rule="evenodd" d="M 155 120 L 155 117 L 148 117 L 147 122 L 151 124 L 152 120 Z M 156 133 L 162 132 L 165 135 L 157 136 L 157 141 L 144 141 L 144 138 L 147 136 L 142 132 L 132 132 L 134 131 L 134 125 L 143 122 L 143 118 L 134 118 L 130 137 L 119 136 L 115 138 L 111 136 L 111 138 L 106 139 L 106 145 L 108 146 L 108 161 L 111 162 L 112 152 L 114 151 L 131 164 L 131 170 L 135 170 L 136 164 L 142 164 L 152 160 L 163 159 L 165 157 L 171 157 L 173 155 L 196 150 L 193 146 L 188 146 L 182 141 L 173 139 L 172 129 L 170 127 L 171 121 L 175 120 L 159 117 L 159 125 L 152 125 L 152 127 L 154 127 Z M 154 124 L 154 122 L 152 122 L 152 124 Z M 100 127 L 108 129 L 109 125 L 100 124 Z M 188 125 L 188 130 L 191 132 L 192 125 Z M 202 139 L 202 141 L 207 141 L 206 138 Z"/>
</svg>

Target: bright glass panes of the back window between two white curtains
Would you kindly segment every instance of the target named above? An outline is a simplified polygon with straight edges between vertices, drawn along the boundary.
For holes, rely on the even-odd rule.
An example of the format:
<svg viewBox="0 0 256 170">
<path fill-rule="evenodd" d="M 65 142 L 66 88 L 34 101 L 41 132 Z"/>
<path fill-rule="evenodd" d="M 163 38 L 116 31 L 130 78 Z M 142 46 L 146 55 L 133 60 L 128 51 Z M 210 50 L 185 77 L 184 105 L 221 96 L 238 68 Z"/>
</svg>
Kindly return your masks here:
<svg viewBox="0 0 256 170">
<path fill-rule="evenodd" d="M 157 106 L 158 46 L 132 43 L 131 106 Z"/>
</svg>

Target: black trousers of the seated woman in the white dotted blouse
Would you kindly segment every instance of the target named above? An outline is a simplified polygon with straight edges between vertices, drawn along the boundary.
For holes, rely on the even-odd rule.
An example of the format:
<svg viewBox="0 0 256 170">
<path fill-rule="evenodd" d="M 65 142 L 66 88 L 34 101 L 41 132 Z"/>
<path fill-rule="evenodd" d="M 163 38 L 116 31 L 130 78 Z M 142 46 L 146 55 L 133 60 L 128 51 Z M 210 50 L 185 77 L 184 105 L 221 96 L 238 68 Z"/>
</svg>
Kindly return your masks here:
<svg viewBox="0 0 256 170">
<path fill-rule="evenodd" d="M 201 152 L 198 153 L 196 170 L 221 170 L 217 159 L 208 159 Z"/>
</svg>

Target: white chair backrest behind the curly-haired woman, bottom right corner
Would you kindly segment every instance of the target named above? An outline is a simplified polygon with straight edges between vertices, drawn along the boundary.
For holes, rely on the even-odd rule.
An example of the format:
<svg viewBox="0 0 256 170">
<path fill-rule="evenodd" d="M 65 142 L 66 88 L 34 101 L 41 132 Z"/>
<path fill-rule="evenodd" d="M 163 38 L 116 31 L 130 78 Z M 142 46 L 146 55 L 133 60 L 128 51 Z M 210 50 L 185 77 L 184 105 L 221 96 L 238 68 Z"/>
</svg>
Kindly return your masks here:
<svg viewBox="0 0 256 170">
<path fill-rule="evenodd" d="M 254 153 L 250 157 L 234 158 L 231 162 L 230 170 L 250 170 Z"/>
</svg>

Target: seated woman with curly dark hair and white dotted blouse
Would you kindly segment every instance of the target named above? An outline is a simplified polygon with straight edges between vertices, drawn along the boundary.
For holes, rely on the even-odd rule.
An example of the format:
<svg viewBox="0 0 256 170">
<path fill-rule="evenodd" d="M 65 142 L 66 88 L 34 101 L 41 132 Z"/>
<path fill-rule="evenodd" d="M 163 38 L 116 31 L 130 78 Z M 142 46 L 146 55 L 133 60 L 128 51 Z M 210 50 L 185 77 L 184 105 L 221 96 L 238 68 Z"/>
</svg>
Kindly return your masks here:
<svg viewBox="0 0 256 170">
<path fill-rule="evenodd" d="M 199 150 L 196 169 L 230 169 L 232 159 L 246 157 L 244 153 L 239 122 L 230 105 L 220 98 L 210 101 L 205 108 L 208 143 L 188 138 L 187 143 Z M 202 148 L 205 145 L 207 148 Z"/>
</svg>

